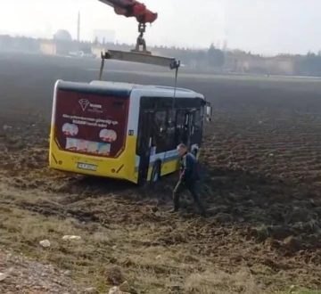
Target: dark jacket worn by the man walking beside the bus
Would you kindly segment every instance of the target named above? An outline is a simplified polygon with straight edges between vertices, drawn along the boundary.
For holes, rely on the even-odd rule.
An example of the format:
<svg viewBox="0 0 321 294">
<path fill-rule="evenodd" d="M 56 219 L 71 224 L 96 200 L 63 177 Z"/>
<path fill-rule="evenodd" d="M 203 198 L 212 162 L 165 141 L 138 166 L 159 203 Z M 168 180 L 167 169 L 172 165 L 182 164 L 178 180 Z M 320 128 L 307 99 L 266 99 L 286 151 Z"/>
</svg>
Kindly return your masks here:
<svg viewBox="0 0 321 294">
<path fill-rule="evenodd" d="M 197 159 L 192 153 L 186 152 L 180 161 L 180 181 L 189 182 L 200 179 Z"/>
</svg>

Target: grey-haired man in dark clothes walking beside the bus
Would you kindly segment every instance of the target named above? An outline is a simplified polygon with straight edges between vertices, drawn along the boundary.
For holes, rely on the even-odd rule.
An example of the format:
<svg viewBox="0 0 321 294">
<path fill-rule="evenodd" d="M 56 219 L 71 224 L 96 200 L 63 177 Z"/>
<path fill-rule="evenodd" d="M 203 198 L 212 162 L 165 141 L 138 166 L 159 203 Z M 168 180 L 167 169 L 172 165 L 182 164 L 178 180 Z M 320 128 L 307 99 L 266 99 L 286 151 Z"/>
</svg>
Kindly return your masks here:
<svg viewBox="0 0 321 294">
<path fill-rule="evenodd" d="M 179 196 L 184 190 L 188 190 L 193 196 L 194 202 L 201 210 L 202 216 L 206 216 L 206 210 L 202 205 L 202 201 L 197 193 L 197 181 L 200 179 L 198 162 L 192 153 L 188 152 L 187 146 L 183 143 L 177 146 L 177 151 L 181 157 L 181 167 L 179 181 L 173 191 L 174 209 L 171 212 L 177 212 L 179 209 Z"/>
</svg>

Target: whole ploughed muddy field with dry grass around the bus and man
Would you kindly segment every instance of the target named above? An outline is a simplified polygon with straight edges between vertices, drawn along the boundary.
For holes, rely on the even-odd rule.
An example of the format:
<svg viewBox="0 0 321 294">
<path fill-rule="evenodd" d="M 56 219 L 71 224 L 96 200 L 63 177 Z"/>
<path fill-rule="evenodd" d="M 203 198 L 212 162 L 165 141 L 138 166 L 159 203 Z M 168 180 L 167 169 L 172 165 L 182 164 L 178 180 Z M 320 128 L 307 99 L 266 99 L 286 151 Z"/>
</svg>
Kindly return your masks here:
<svg viewBox="0 0 321 294">
<path fill-rule="evenodd" d="M 179 80 L 214 106 L 202 156 L 210 217 L 202 219 L 188 197 L 180 215 L 167 213 L 175 176 L 148 191 L 47 168 L 53 84 L 95 79 L 95 65 L 1 55 L 2 248 L 53 264 L 77 287 L 102 293 L 124 281 L 133 293 L 321 288 L 320 82 Z M 135 73 L 105 77 L 173 84 Z M 65 234 L 82 240 L 62 241 Z M 39 245 L 45 239 L 48 249 Z M 2 292 L 12 289 L 14 279 L 0 282 Z"/>
</svg>

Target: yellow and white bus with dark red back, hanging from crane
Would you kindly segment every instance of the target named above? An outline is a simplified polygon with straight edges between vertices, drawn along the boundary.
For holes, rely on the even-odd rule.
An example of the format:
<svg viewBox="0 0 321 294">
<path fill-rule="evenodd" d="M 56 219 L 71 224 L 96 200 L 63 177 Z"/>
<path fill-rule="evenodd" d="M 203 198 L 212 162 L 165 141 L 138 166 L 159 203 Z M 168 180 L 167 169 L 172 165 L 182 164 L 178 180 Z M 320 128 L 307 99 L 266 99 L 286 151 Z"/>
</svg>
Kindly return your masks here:
<svg viewBox="0 0 321 294">
<path fill-rule="evenodd" d="M 179 143 L 199 157 L 203 125 L 210 115 L 210 102 L 189 89 L 58 80 L 49 167 L 155 183 L 179 168 Z"/>
</svg>

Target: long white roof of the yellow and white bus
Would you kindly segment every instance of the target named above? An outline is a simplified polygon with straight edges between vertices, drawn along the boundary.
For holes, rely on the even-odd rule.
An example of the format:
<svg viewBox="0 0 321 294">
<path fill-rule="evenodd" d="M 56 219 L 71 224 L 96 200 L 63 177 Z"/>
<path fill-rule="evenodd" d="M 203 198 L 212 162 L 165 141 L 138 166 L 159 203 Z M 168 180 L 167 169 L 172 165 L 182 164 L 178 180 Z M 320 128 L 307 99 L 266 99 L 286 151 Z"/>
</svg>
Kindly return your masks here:
<svg viewBox="0 0 321 294">
<path fill-rule="evenodd" d="M 111 82 L 111 81 L 100 81 L 94 80 L 91 83 L 79 83 L 79 82 L 69 82 L 69 81 L 62 81 L 58 80 L 56 82 L 56 86 L 60 89 L 68 89 L 68 90 L 80 90 L 86 92 L 112 92 L 118 93 L 120 95 L 128 95 L 133 90 L 138 91 L 157 91 L 158 93 L 169 95 L 174 91 L 173 86 L 156 86 L 156 85 L 140 85 L 140 84 L 131 84 L 131 83 L 121 83 L 121 82 Z M 193 90 L 185 89 L 185 88 L 176 88 L 176 95 L 177 97 L 199 97 L 204 99 L 202 94 L 196 93 Z"/>
</svg>

